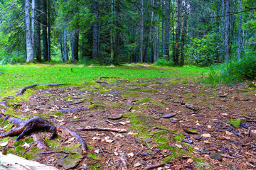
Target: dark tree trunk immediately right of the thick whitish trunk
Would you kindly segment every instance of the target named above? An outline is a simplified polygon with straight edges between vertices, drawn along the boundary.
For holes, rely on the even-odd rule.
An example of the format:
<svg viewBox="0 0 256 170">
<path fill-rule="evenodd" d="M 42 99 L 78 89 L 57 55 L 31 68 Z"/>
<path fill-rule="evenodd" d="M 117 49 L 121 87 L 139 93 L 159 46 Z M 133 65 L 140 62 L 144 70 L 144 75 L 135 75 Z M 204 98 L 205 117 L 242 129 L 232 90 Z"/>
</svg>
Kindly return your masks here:
<svg viewBox="0 0 256 170">
<path fill-rule="evenodd" d="M 36 60 L 41 62 L 41 0 L 36 0 Z"/>
</svg>

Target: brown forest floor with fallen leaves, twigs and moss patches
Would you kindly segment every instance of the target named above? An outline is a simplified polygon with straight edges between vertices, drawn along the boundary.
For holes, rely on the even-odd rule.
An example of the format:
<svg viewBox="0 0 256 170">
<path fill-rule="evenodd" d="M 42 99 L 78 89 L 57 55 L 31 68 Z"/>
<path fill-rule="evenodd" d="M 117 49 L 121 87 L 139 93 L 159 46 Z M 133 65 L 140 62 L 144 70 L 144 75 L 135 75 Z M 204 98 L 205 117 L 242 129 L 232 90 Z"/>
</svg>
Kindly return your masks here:
<svg viewBox="0 0 256 170">
<path fill-rule="evenodd" d="M 60 130 L 58 137 L 46 140 L 45 150 L 36 149 L 28 136 L 16 144 L 14 137 L 0 141 L 8 141 L 0 146 L 9 153 L 59 169 L 256 168 L 256 89 L 247 83 L 213 89 L 181 79 L 102 77 L 100 82 L 37 86 L 1 101 L 10 107 L 0 106 L 4 115 L 38 115 L 80 134 L 88 147 L 86 154 L 74 137 Z M 88 110 L 60 112 L 82 107 Z M 234 128 L 230 120 L 241 124 Z M 109 129 L 77 130 L 88 126 Z M 40 135 L 48 138 L 50 133 Z"/>
</svg>

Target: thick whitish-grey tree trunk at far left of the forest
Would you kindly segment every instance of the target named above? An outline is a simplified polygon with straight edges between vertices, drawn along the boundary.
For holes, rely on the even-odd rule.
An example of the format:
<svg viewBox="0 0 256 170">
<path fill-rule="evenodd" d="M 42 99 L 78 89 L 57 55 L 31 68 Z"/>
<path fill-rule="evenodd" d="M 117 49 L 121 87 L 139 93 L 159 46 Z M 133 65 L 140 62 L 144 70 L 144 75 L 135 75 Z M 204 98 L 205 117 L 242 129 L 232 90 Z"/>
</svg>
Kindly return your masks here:
<svg viewBox="0 0 256 170">
<path fill-rule="evenodd" d="M 30 4 L 25 1 L 25 21 L 26 21 L 26 62 L 33 61 L 33 46 L 31 40 L 31 21 L 30 21 Z"/>
</svg>

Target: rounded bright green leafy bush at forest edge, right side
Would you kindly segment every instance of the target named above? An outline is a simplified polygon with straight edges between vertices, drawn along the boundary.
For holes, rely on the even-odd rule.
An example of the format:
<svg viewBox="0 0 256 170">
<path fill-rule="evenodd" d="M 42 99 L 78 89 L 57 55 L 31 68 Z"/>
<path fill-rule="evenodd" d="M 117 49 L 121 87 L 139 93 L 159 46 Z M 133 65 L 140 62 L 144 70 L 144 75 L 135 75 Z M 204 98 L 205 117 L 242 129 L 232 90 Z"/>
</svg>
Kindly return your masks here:
<svg viewBox="0 0 256 170">
<path fill-rule="evenodd" d="M 220 44 L 216 42 L 218 35 L 204 35 L 202 38 L 193 38 L 185 46 L 186 62 L 188 64 L 209 66 L 218 59 Z"/>
</svg>

